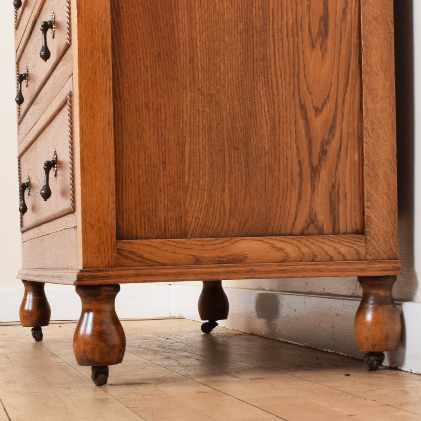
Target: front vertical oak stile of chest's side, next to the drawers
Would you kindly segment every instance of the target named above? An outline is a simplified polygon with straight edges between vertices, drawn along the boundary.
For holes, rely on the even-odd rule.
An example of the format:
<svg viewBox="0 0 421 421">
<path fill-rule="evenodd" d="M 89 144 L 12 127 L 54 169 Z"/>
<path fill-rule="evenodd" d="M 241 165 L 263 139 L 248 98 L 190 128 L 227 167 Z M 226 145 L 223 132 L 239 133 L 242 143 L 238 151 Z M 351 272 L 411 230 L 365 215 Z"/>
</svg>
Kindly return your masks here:
<svg viewBox="0 0 421 421">
<path fill-rule="evenodd" d="M 116 259 L 111 31 L 108 0 L 72 1 L 79 267 Z"/>
</svg>

